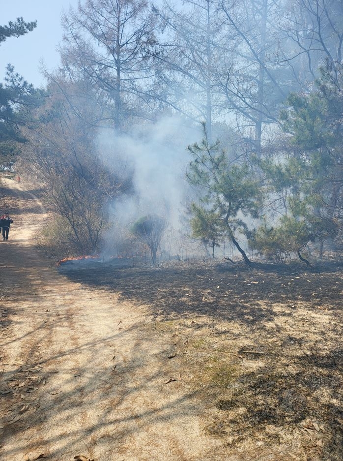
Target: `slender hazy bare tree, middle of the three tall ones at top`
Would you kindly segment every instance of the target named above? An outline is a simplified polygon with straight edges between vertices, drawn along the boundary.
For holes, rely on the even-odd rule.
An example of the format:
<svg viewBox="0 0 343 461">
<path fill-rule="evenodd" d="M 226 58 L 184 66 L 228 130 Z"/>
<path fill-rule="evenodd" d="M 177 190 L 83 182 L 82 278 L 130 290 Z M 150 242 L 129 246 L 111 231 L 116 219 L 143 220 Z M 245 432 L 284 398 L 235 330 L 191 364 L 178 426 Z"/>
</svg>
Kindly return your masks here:
<svg viewBox="0 0 343 461">
<path fill-rule="evenodd" d="M 212 0 L 187 0 L 182 10 L 165 2 L 154 7 L 162 22 L 164 41 L 154 53 L 156 96 L 168 107 L 195 122 L 206 122 L 211 137 L 213 121 L 219 117 L 214 71 L 220 55 L 220 24 Z"/>
</svg>

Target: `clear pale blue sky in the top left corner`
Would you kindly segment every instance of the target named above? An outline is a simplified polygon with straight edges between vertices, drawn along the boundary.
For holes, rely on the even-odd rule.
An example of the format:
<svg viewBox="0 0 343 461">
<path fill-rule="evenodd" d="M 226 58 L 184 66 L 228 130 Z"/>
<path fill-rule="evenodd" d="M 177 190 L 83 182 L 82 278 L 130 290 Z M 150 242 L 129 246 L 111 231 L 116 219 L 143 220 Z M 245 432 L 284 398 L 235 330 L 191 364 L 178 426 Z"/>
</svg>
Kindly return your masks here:
<svg viewBox="0 0 343 461">
<path fill-rule="evenodd" d="M 0 81 L 3 81 L 6 65 L 15 70 L 34 86 L 44 85 L 40 74 L 41 61 L 51 70 L 58 65 L 56 51 L 62 38 L 60 17 L 70 5 L 77 7 L 78 0 L 0 0 L 0 25 L 23 17 L 24 21 L 37 20 L 37 27 L 18 38 L 11 37 L 0 45 Z"/>
</svg>

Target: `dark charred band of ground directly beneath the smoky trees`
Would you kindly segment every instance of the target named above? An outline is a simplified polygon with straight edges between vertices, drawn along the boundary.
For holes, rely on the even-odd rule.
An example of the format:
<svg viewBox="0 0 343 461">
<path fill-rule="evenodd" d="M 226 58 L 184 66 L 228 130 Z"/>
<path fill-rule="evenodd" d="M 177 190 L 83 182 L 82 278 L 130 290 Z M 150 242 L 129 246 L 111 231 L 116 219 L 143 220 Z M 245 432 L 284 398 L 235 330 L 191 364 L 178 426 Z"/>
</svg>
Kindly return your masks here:
<svg viewBox="0 0 343 461">
<path fill-rule="evenodd" d="M 96 264 L 61 265 L 70 280 L 106 287 L 124 300 L 148 304 L 156 316 L 211 315 L 254 327 L 274 318 L 273 305 L 299 302 L 311 308 L 340 308 L 343 267 L 340 264 L 304 269 L 299 266 L 252 264 L 210 267 L 175 264 L 162 268 Z M 282 313 L 278 313 L 282 315 Z"/>
</svg>

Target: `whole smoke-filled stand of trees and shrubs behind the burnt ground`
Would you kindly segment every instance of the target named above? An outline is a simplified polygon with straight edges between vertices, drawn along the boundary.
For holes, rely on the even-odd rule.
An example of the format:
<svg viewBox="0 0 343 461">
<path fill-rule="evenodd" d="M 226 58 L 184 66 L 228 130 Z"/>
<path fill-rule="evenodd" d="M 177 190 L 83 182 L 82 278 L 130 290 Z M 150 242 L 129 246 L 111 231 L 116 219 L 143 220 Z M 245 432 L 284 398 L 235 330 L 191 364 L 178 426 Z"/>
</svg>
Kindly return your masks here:
<svg viewBox="0 0 343 461">
<path fill-rule="evenodd" d="M 44 246 L 154 264 L 337 248 L 341 1 L 88 0 L 62 25 L 46 88 L 10 65 L 0 86 L 0 163 L 42 188 Z"/>
</svg>

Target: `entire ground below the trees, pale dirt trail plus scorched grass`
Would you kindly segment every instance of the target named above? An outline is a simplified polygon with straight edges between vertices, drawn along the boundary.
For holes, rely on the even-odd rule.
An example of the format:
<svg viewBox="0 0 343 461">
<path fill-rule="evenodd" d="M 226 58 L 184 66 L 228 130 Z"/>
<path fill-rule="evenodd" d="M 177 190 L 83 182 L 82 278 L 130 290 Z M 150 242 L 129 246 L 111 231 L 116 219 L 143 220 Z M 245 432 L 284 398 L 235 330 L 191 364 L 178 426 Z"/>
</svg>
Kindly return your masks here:
<svg viewBox="0 0 343 461">
<path fill-rule="evenodd" d="M 37 250 L 39 191 L 0 211 L 0 460 L 343 459 L 343 264 Z"/>
</svg>

